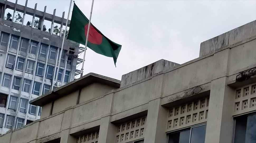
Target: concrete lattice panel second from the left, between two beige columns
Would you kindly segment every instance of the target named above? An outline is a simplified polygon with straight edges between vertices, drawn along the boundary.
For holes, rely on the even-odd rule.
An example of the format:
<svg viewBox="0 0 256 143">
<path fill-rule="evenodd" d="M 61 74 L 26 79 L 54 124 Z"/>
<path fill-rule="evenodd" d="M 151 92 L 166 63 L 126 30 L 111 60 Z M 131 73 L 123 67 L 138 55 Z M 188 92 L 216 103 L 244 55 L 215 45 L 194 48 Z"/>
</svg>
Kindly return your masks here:
<svg viewBox="0 0 256 143">
<path fill-rule="evenodd" d="M 147 117 L 121 124 L 117 128 L 116 143 L 131 142 L 144 138 Z"/>
</svg>

